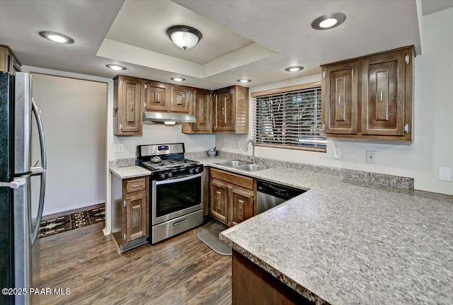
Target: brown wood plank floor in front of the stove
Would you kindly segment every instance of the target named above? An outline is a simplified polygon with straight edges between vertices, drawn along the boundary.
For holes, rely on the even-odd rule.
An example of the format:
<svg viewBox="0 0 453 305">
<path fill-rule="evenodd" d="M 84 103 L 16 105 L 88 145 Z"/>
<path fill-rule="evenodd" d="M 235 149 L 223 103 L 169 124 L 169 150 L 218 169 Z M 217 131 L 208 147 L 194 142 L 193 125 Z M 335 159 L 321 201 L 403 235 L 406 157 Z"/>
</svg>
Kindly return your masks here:
<svg viewBox="0 0 453 305">
<path fill-rule="evenodd" d="M 40 238 L 33 287 L 71 289 L 33 304 L 231 304 L 231 256 L 214 253 L 197 230 L 118 254 L 103 224 Z"/>
</svg>

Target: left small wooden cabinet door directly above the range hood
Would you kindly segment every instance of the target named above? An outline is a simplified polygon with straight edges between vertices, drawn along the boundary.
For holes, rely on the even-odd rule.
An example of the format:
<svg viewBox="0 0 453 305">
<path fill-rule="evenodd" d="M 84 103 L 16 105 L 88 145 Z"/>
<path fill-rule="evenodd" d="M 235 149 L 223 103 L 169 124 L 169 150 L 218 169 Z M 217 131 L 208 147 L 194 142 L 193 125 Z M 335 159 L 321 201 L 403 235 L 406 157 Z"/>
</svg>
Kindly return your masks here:
<svg viewBox="0 0 453 305">
<path fill-rule="evenodd" d="M 146 111 L 168 111 L 170 103 L 166 98 L 166 84 L 142 80 L 142 102 Z"/>
</svg>

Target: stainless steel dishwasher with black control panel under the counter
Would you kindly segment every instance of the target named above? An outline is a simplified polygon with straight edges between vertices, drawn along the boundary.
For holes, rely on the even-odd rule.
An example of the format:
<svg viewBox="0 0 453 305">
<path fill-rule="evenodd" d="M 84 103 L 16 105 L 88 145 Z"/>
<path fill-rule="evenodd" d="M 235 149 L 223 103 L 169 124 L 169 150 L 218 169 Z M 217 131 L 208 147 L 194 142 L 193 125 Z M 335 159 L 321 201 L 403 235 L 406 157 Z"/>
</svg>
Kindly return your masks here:
<svg viewBox="0 0 453 305">
<path fill-rule="evenodd" d="M 257 180 L 256 181 L 256 207 L 257 213 L 263 213 L 272 209 L 280 203 L 283 203 L 292 197 L 296 197 L 305 192 L 298 188 L 280 185 L 273 182 Z"/>
</svg>

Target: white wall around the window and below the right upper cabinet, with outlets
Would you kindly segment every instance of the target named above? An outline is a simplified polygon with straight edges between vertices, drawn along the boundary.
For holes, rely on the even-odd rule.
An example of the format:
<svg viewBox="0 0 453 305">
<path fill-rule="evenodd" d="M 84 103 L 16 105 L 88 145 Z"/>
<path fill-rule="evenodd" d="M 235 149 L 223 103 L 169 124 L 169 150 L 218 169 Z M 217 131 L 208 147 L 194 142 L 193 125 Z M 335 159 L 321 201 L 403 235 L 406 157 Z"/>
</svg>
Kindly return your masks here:
<svg viewBox="0 0 453 305">
<path fill-rule="evenodd" d="M 453 183 L 437 180 L 438 167 L 453 168 L 453 8 L 423 17 L 423 54 L 415 58 L 414 141 L 377 142 L 329 138 L 327 153 L 257 147 L 256 155 L 415 179 L 415 189 L 453 195 Z M 250 92 L 320 81 L 321 75 L 292 79 Z M 217 136 L 217 149 L 243 153 L 246 136 Z M 239 141 L 240 148 L 235 148 Z M 333 147 L 343 159 L 333 159 Z M 376 163 L 365 162 L 365 151 L 376 151 Z"/>
</svg>

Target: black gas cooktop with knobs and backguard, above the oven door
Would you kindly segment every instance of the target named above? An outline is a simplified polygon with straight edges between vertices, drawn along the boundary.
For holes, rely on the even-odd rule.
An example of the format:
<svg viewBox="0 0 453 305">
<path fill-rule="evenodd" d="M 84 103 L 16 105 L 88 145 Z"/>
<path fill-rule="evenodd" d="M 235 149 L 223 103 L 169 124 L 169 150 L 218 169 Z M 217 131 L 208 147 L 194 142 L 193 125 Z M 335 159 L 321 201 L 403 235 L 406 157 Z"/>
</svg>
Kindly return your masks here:
<svg viewBox="0 0 453 305">
<path fill-rule="evenodd" d="M 137 146 L 137 165 L 149 169 L 152 180 L 202 173 L 202 164 L 184 159 L 184 151 L 183 143 L 139 145 Z M 155 157 L 159 157 L 161 161 L 151 161 Z"/>
</svg>

